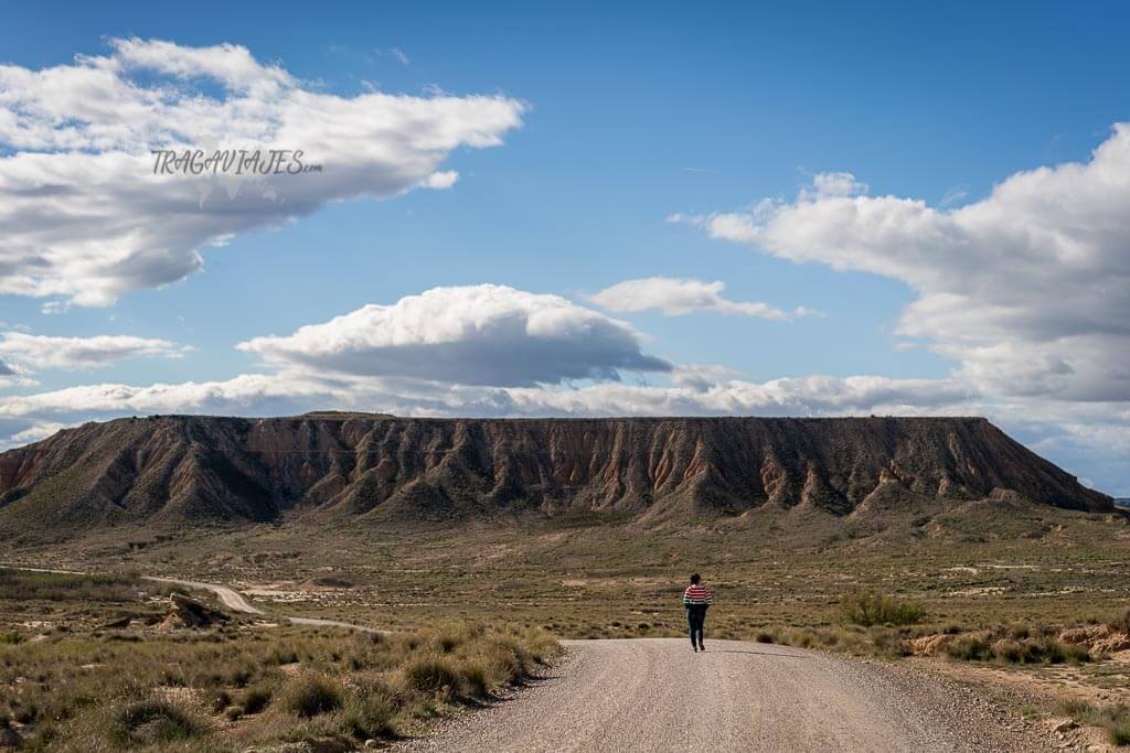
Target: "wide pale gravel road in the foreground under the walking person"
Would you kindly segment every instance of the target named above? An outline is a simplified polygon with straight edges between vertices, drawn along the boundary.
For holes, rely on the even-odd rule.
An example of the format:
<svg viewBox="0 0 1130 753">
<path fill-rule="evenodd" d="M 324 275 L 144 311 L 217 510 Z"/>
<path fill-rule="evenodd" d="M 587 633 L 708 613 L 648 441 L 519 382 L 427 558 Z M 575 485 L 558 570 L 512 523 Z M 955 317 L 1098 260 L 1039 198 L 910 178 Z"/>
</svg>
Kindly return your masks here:
<svg viewBox="0 0 1130 753">
<path fill-rule="evenodd" d="M 401 743 L 420 751 L 1048 751 L 968 689 L 783 646 L 567 641 L 546 677 Z"/>
</svg>

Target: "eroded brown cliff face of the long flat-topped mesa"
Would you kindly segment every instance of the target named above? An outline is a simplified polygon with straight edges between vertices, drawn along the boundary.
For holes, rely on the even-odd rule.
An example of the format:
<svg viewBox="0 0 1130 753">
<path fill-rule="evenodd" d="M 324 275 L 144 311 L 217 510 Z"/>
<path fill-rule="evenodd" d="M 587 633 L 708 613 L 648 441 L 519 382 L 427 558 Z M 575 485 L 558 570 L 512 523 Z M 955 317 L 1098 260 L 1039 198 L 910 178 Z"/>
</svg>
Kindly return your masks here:
<svg viewBox="0 0 1130 753">
<path fill-rule="evenodd" d="M 0 454 L 0 529 L 116 522 L 429 519 L 511 510 L 846 515 L 897 493 L 1111 499 L 984 419 L 153 417 Z"/>
</svg>

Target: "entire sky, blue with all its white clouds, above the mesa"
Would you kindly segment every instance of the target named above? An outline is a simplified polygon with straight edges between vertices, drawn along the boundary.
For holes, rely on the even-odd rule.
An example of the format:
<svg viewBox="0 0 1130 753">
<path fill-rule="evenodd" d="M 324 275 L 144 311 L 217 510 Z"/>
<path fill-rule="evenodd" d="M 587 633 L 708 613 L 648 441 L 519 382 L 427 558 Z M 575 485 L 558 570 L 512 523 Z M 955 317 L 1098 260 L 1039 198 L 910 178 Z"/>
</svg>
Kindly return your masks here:
<svg viewBox="0 0 1130 753">
<path fill-rule="evenodd" d="M 607 5 L 7 8 L 0 447 L 977 414 L 1130 496 L 1130 9 Z"/>
</svg>

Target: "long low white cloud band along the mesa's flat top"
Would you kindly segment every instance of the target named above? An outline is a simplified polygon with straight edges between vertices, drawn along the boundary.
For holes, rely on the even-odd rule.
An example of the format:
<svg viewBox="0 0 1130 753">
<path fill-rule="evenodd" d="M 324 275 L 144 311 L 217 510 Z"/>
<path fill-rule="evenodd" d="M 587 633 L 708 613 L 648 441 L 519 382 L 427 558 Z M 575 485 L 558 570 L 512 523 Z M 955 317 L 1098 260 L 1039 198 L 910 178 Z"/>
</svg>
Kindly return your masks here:
<svg viewBox="0 0 1130 753">
<path fill-rule="evenodd" d="M 689 387 L 619 382 L 577 388 L 498 387 L 420 378 L 334 376 L 289 368 L 223 382 L 97 384 L 10 395 L 0 397 L 0 418 L 47 420 L 77 413 L 168 412 L 261 415 L 269 414 L 272 405 L 303 404 L 443 415 L 822 415 L 944 412 L 976 397 L 967 386 L 951 380 L 811 376 L 755 383 L 715 380 L 702 370 L 699 377 Z"/>
</svg>

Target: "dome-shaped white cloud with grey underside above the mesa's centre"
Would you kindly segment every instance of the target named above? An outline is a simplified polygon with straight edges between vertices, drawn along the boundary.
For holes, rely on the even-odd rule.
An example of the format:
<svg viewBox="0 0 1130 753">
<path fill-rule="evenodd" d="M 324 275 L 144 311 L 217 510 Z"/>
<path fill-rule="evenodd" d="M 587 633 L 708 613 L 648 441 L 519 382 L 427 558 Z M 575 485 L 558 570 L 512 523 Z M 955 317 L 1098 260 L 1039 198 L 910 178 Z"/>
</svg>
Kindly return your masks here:
<svg viewBox="0 0 1130 753">
<path fill-rule="evenodd" d="M 277 365 L 495 386 L 671 368 L 641 352 L 640 333 L 625 322 L 495 284 L 434 288 L 237 347 Z"/>
</svg>

